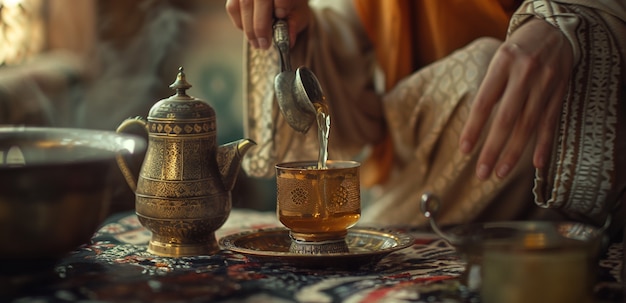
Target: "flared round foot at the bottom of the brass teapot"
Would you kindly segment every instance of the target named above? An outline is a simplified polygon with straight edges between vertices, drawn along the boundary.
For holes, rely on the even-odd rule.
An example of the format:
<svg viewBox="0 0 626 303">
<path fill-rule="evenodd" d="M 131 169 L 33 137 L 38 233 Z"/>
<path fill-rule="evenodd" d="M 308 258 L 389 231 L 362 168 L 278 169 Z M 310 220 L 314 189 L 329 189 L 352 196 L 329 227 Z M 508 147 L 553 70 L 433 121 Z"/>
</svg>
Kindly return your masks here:
<svg viewBox="0 0 626 303">
<path fill-rule="evenodd" d="M 189 257 L 189 256 L 210 256 L 220 250 L 215 237 L 211 237 L 208 242 L 202 243 L 164 243 L 157 240 L 150 240 L 148 252 L 162 257 Z"/>
</svg>

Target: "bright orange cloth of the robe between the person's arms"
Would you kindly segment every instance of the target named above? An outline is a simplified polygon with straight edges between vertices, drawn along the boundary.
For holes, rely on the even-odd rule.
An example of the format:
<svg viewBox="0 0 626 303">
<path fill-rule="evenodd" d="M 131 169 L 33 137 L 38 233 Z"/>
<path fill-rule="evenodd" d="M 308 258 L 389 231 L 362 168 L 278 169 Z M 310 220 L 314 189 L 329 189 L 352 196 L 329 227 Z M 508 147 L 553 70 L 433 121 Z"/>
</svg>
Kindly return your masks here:
<svg viewBox="0 0 626 303">
<path fill-rule="evenodd" d="M 477 38 L 504 40 L 519 5 L 515 0 L 354 1 L 387 89 Z"/>
</svg>

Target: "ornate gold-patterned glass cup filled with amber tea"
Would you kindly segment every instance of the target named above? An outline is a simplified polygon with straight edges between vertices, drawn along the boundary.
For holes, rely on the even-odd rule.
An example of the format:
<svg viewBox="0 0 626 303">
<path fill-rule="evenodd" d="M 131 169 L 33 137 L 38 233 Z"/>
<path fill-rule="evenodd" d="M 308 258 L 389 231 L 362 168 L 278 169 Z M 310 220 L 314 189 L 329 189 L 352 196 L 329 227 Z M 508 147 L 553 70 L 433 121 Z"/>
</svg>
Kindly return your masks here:
<svg viewBox="0 0 626 303">
<path fill-rule="evenodd" d="M 361 216 L 360 163 L 328 160 L 276 165 L 277 215 L 289 229 L 290 251 L 345 253 L 348 228 Z"/>
</svg>

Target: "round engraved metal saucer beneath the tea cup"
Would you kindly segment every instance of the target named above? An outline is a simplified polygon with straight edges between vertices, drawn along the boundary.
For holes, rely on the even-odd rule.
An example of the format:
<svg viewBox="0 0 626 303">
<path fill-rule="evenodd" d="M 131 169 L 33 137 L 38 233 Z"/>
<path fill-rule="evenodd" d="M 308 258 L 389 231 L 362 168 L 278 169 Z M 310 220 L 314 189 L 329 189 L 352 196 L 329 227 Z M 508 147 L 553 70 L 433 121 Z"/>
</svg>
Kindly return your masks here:
<svg viewBox="0 0 626 303">
<path fill-rule="evenodd" d="M 289 230 L 284 227 L 245 231 L 219 240 L 222 248 L 263 262 L 305 268 L 359 268 L 407 248 L 412 236 L 373 228 L 351 228 L 346 236 L 348 252 L 299 254 L 290 252 Z"/>
</svg>

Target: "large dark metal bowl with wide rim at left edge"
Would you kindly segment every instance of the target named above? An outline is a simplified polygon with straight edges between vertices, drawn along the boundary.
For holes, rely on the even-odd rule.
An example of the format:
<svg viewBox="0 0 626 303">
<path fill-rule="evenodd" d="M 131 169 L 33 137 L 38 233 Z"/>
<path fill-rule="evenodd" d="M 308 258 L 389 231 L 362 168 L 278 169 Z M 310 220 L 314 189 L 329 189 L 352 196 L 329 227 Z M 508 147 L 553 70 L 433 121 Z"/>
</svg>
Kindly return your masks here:
<svg viewBox="0 0 626 303">
<path fill-rule="evenodd" d="M 3 268 L 54 262 L 88 242 L 109 210 L 115 157 L 145 148 L 112 131 L 0 127 Z"/>
</svg>

